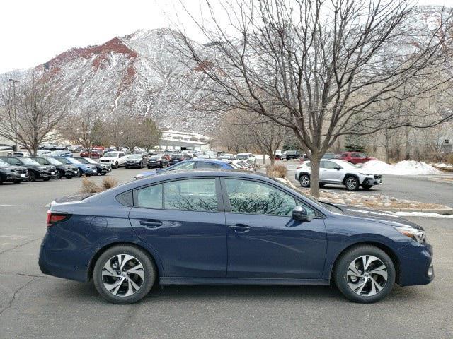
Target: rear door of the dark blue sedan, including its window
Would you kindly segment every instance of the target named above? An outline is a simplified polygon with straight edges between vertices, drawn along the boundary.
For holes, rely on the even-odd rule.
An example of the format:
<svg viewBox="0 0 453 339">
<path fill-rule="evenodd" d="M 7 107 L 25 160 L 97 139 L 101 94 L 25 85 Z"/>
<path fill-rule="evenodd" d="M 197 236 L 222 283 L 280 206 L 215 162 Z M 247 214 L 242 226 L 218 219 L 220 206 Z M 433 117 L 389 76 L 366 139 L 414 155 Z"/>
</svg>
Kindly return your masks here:
<svg viewBox="0 0 453 339">
<path fill-rule="evenodd" d="M 166 277 L 226 276 L 225 215 L 219 179 L 185 179 L 134 192 L 130 222 L 159 256 Z"/>
</svg>

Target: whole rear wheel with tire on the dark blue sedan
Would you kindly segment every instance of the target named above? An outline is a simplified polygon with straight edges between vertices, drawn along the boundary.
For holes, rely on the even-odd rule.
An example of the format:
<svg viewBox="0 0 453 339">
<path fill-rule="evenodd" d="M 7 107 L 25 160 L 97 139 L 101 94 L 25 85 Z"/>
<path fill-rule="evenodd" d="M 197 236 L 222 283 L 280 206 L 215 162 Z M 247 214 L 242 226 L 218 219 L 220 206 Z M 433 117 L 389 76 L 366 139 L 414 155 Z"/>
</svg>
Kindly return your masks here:
<svg viewBox="0 0 453 339">
<path fill-rule="evenodd" d="M 101 254 L 94 266 L 93 280 L 96 290 L 108 302 L 132 304 L 151 290 L 156 268 L 141 249 L 120 245 Z"/>
</svg>

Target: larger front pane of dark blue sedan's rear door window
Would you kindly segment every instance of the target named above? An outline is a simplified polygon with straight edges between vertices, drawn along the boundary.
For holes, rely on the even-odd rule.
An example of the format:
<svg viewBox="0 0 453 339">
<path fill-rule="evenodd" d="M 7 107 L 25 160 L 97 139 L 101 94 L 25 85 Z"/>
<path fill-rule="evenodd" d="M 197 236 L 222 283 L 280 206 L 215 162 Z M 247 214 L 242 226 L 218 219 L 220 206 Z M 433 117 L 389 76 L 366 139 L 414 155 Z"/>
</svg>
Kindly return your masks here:
<svg viewBox="0 0 453 339">
<path fill-rule="evenodd" d="M 217 211 L 215 179 L 186 179 L 164 184 L 164 208 Z"/>
</svg>

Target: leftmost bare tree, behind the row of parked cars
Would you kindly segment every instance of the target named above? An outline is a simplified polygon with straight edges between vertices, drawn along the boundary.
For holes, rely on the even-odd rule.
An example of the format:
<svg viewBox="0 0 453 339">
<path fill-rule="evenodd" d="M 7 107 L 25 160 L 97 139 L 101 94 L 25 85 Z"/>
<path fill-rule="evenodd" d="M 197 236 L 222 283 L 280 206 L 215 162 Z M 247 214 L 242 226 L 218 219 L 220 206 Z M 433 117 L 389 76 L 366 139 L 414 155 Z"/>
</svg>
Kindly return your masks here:
<svg viewBox="0 0 453 339">
<path fill-rule="evenodd" d="M 17 135 L 18 143 L 33 155 L 40 143 L 57 138 L 57 126 L 67 112 L 64 95 L 36 71 L 16 86 L 16 96 L 10 85 L 0 88 L 0 136 L 15 141 Z"/>
</svg>

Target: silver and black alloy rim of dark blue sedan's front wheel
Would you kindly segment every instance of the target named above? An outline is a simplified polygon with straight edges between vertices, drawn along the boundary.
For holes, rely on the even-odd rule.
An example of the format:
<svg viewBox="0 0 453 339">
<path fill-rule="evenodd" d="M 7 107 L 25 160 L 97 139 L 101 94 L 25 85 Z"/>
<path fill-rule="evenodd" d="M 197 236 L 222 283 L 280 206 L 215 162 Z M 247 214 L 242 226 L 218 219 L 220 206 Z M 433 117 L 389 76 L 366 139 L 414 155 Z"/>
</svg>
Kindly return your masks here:
<svg viewBox="0 0 453 339">
<path fill-rule="evenodd" d="M 359 256 L 346 273 L 350 289 L 357 295 L 371 297 L 379 293 L 387 282 L 387 268 L 376 256 Z"/>
</svg>

